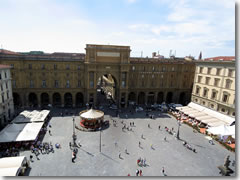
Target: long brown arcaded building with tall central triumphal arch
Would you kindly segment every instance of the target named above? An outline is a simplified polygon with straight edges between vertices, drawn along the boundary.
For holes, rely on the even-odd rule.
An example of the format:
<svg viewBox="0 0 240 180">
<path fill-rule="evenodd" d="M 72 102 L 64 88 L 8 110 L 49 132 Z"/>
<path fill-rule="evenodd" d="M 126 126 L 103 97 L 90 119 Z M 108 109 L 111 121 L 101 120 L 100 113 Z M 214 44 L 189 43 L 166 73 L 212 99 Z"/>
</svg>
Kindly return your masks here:
<svg viewBox="0 0 240 180">
<path fill-rule="evenodd" d="M 195 62 L 184 58 L 134 58 L 129 46 L 86 45 L 83 53 L 0 51 L 12 67 L 15 106 L 99 105 L 98 80 L 111 75 L 117 105 L 181 103 L 191 99 Z"/>
</svg>

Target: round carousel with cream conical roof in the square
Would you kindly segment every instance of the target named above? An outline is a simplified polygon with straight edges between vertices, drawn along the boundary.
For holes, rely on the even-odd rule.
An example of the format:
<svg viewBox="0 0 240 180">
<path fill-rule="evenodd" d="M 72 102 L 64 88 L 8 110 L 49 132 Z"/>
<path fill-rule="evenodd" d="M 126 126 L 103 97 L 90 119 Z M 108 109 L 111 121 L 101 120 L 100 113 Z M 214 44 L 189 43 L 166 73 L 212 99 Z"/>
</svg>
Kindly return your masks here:
<svg viewBox="0 0 240 180">
<path fill-rule="evenodd" d="M 104 112 L 95 109 L 81 111 L 79 115 L 80 126 L 87 129 L 99 128 L 104 120 Z"/>
</svg>

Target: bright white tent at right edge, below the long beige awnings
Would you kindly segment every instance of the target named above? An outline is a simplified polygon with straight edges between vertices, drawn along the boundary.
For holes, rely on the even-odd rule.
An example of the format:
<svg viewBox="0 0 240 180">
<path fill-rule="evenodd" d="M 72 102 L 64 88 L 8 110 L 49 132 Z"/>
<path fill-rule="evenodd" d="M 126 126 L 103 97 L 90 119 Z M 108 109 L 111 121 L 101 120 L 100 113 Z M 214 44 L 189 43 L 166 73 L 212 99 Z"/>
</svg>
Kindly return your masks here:
<svg viewBox="0 0 240 180">
<path fill-rule="evenodd" d="M 207 129 L 209 133 L 215 134 L 215 135 L 234 135 L 235 137 L 235 125 L 234 126 L 227 126 L 227 125 L 221 125 L 218 127 L 211 127 Z"/>
</svg>

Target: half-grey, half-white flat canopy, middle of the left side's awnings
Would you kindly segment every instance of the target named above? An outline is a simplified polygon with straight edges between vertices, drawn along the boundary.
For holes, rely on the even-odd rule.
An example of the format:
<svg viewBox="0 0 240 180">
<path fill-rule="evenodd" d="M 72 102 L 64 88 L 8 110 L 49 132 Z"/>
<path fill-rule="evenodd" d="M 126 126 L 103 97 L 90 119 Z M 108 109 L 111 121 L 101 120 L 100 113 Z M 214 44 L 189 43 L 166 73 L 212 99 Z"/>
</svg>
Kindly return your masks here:
<svg viewBox="0 0 240 180">
<path fill-rule="evenodd" d="M 0 142 L 32 141 L 37 138 L 43 126 L 39 123 L 8 124 L 0 132 Z"/>
</svg>

